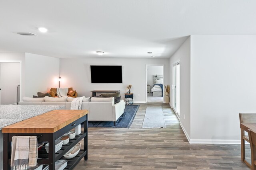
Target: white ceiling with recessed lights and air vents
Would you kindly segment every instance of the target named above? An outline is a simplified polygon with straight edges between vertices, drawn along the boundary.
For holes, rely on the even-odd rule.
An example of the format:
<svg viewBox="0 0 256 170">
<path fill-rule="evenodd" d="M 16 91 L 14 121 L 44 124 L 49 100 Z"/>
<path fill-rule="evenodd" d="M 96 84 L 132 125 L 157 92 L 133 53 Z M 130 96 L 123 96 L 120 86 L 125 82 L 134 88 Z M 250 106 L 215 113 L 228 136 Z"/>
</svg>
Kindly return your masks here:
<svg viewBox="0 0 256 170">
<path fill-rule="evenodd" d="M 169 58 L 188 35 L 255 35 L 255 8 L 255 0 L 1 0 L 0 52 Z"/>
</svg>

